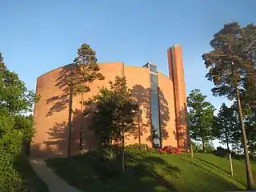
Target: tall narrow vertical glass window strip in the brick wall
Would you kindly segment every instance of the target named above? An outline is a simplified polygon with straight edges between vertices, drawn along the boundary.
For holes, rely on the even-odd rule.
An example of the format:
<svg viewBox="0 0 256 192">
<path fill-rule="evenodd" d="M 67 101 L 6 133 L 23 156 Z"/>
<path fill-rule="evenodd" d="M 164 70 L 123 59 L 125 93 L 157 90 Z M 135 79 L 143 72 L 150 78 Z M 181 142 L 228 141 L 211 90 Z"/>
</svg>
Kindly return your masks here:
<svg viewBox="0 0 256 192">
<path fill-rule="evenodd" d="M 150 74 L 150 102 L 151 102 L 151 121 L 152 138 L 155 148 L 161 146 L 160 126 L 159 126 L 159 106 L 158 106 L 158 76 Z"/>
</svg>

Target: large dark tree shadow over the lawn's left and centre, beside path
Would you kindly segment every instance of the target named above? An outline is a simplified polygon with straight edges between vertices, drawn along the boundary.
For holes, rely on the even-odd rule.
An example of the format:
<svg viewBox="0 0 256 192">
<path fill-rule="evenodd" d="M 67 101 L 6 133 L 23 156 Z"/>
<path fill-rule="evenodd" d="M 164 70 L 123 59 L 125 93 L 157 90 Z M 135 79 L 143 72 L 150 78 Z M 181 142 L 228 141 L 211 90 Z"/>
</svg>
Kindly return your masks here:
<svg viewBox="0 0 256 192">
<path fill-rule="evenodd" d="M 122 174 L 120 162 L 119 156 L 110 160 L 98 153 L 47 160 L 66 182 L 84 191 L 178 192 L 167 178 L 177 180 L 179 170 L 162 158 L 126 154 L 125 174 Z"/>
</svg>

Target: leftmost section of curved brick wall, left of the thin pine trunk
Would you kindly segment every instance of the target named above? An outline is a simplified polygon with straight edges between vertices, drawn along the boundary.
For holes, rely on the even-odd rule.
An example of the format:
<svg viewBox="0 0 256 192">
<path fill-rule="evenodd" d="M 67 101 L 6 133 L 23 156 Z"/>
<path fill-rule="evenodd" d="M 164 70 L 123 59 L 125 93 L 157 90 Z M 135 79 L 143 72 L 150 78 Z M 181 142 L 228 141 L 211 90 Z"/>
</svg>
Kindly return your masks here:
<svg viewBox="0 0 256 192">
<path fill-rule="evenodd" d="M 52 70 L 37 79 L 41 99 L 34 106 L 36 134 L 30 154 L 35 157 L 66 156 L 69 94 L 65 77 L 70 66 Z"/>
</svg>

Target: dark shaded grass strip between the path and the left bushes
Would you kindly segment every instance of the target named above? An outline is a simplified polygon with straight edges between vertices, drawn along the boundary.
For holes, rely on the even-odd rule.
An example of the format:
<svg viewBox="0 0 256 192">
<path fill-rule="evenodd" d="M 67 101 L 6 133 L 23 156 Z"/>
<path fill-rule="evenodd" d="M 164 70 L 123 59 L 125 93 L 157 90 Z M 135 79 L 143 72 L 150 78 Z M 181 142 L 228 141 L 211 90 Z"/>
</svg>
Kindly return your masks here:
<svg viewBox="0 0 256 192">
<path fill-rule="evenodd" d="M 48 186 L 34 173 L 28 158 L 24 156 L 18 158 L 16 170 L 18 170 L 18 174 L 23 178 L 24 186 L 30 189 L 28 191 L 49 192 Z"/>
</svg>

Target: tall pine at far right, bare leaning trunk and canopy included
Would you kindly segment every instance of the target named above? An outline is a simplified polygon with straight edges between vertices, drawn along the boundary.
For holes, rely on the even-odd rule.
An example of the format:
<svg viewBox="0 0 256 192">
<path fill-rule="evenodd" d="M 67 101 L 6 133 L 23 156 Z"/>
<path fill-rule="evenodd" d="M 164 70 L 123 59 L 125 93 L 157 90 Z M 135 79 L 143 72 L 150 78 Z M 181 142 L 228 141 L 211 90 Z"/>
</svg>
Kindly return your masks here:
<svg viewBox="0 0 256 192">
<path fill-rule="evenodd" d="M 206 78 L 214 82 L 212 92 L 214 96 L 226 96 L 230 100 L 236 100 L 238 116 L 242 130 L 243 147 L 245 151 L 247 189 L 254 188 L 254 180 L 250 168 L 250 158 L 247 149 L 246 130 L 242 114 L 241 93 L 244 90 L 246 79 L 254 71 L 254 64 L 246 58 L 245 51 L 250 44 L 251 36 L 255 30 L 251 27 L 241 27 L 238 22 L 224 25 L 222 30 L 214 34 L 210 46 L 214 50 L 203 54 L 208 73 Z"/>
</svg>

